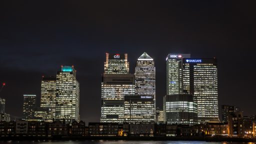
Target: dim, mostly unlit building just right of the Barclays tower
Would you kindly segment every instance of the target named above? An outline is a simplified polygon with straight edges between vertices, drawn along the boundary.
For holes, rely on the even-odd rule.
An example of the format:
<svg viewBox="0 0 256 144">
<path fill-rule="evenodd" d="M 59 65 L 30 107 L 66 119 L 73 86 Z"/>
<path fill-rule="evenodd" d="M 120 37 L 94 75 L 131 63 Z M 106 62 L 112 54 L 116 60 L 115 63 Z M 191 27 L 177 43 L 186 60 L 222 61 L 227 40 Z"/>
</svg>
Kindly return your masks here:
<svg viewBox="0 0 256 144">
<path fill-rule="evenodd" d="M 228 122 L 229 115 L 238 111 L 240 111 L 240 108 L 234 105 L 221 105 L 222 122 Z"/>
</svg>

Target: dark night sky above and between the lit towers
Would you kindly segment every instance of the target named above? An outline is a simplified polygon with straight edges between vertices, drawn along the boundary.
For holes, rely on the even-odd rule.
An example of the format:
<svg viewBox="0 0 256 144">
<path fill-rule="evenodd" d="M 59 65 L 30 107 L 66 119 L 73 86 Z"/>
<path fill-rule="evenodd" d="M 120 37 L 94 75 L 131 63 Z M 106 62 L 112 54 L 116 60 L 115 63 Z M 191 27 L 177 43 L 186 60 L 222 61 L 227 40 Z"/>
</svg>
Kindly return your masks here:
<svg viewBox="0 0 256 144">
<path fill-rule="evenodd" d="M 0 82 L 6 87 L 0 96 L 6 112 L 21 117 L 23 94 L 36 94 L 39 106 L 42 75 L 74 65 L 81 120 L 99 121 L 105 52 L 128 53 L 133 73 L 145 51 L 155 60 L 156 106 L 162 108 L 166 91 L 167 54 L 190 53 L 217 58 L 219 105 L 256 114 L 255 5 L 255 0 L 1 1 Z"/>
</svg>

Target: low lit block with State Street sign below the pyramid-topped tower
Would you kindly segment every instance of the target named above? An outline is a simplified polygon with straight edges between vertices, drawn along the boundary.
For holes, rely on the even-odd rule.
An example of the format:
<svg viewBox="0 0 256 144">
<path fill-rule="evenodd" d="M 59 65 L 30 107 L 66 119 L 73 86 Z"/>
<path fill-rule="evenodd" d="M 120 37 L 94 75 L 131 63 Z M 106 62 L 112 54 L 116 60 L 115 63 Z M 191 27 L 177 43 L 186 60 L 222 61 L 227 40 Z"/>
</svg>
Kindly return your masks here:
<svg viewBox="0 0 256 144">
<path fill-rule="evenodd" d="M 124 122 L 154 123 L 154 115 L 153 95 L 124 95 Z"/>
</svg>

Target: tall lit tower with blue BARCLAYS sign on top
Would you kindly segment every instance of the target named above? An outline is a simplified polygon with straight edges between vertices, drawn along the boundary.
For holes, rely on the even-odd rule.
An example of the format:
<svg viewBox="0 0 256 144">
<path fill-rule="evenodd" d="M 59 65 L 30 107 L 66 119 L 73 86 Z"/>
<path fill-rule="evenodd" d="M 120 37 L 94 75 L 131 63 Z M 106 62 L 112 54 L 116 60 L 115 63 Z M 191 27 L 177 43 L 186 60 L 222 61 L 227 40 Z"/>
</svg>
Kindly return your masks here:
<svg viewBox="0 0 256 144">
<path fill-rule="evenodd" d="M 197 103 L 198 122 L 219 122 L 217 60 L 183 58 L 183 89 Z"/>
</svg>

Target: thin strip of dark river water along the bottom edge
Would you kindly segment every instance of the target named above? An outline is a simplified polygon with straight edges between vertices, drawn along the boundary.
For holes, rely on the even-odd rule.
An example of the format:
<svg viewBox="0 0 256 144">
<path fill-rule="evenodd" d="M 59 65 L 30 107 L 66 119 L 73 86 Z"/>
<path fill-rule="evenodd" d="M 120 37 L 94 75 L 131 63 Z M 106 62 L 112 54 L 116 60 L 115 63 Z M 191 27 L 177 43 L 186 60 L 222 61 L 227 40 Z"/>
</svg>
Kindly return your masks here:
<svg viewBox="0 0 256 144">
<path fill-rule="evenodd" d="M 55 141 L 55 140 L 35 140 L 35 141 L 17 141 L 17 140 L 9 140 L 9 141 L 0 141 L 0 143 L 18 143 L 18 144 L 133 144 L 133 143 L 140 143 L 140 144 L 181 144 L 181 143 L 192 143 L 192 144 L 215 144 L 215 143 L 254 143 L 254 142 L 205 142 L 205 141 L 133 141 L 133 140 L 67 140 L 67 141 Z"/>
</svg>

